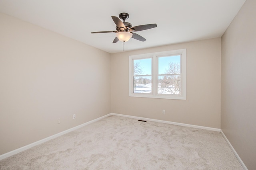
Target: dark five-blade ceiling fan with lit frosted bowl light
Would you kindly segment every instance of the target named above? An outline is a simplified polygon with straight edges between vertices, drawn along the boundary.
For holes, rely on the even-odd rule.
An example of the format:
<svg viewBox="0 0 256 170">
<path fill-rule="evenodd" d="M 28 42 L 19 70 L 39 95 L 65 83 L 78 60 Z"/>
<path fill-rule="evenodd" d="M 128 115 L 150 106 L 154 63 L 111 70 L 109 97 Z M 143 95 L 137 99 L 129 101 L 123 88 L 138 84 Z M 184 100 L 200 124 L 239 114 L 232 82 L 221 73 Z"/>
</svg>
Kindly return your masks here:
<svg viewBox="0 0 256 170">
<path fill-rule="evenodd" d="M 116 24 L 116 31 L 98 31 L 98 32 L 91 32 L 91 33 L 116 33 L 116 38 L 114 39 L 113 43 L 116 43 L 119 40 L 122 42 L 126 42 L 126 41 L 129 41 L 131 37 L 139 41 L 146 41 L 144 37 L 134 32 L 157 27 L 156 23 L 138 25 L 133 27 L 131 23 L 125 22 L 125 20 L 129 18 L 129 14 L 125 12 L 119 14 L 119 18 L 123 21 L 119 20 L 119 18 L 116 16 L 111 16 L 111 17 L 114 23 Z"/>
</svg>

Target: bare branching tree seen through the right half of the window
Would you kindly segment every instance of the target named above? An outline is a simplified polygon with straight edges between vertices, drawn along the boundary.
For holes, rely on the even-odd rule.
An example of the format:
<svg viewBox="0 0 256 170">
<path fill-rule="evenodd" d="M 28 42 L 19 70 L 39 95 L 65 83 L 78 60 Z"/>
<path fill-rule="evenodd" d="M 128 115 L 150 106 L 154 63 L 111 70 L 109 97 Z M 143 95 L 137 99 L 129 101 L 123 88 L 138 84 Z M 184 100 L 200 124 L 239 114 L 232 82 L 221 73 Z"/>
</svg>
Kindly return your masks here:
<svg viewBox="0 0 256 170">
<path fill-rule="evenodd" d="M 158 76 L 158 93 L 159 94 L 176 94 L 181 92 L 181 74 L 180 63 L 168 63 L 164 75 Z"/>
</svg>

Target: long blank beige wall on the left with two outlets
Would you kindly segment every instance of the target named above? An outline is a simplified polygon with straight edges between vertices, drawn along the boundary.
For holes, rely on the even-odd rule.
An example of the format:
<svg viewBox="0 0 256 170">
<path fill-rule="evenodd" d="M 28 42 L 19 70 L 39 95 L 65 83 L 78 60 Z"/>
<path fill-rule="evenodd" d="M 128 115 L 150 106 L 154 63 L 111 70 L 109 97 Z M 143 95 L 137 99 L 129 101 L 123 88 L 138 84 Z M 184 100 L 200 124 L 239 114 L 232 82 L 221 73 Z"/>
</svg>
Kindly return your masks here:
<svg viewBox="0 0 256 170">
<path fill-rule="evenodd" d="M 109 53 L 1 13 L 0 23 L 0 155 L 110 113 Z"/>
</svg>

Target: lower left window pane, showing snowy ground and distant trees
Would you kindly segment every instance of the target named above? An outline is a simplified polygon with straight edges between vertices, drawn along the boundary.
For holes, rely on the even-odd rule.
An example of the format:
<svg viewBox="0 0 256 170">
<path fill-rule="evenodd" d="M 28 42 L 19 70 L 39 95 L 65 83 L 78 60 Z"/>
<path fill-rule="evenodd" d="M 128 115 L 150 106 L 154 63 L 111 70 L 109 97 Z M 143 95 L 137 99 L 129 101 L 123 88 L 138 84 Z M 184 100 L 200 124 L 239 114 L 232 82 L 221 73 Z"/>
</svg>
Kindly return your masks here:
<svg viewBox="0 0 256 170">
<path fill-rule="evenodd" d="M 151 76 L 134 76 L 134 93 L 151 93 Z"/>
</svg>

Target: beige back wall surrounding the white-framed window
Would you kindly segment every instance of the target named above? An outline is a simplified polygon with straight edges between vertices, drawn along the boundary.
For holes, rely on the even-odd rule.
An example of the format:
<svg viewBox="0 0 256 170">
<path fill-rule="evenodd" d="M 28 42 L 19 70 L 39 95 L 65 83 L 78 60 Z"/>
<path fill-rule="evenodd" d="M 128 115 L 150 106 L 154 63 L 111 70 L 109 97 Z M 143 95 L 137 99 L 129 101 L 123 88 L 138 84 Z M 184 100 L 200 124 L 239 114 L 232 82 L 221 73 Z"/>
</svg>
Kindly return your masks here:
<svg viewBox="0 0 256 170">
<path fill-rule="evenodd" d="M 128 96 L 129 55 L 185 48 L 187 100 Z M 220 55 L 220 38 L 112 54 L 111 112 L 220 128 Z"/>
</svg>

